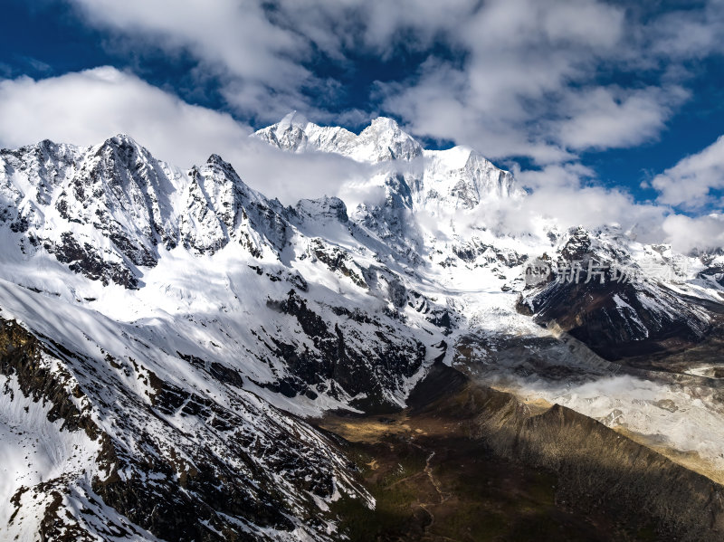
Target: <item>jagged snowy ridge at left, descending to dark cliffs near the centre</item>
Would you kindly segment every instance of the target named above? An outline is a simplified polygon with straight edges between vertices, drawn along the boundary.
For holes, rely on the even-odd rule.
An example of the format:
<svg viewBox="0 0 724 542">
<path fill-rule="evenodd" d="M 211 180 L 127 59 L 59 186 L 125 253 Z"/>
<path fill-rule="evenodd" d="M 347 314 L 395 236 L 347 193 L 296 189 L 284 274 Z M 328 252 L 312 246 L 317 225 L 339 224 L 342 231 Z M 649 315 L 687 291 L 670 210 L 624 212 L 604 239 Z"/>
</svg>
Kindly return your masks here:
<svg viewBox="0 0 724 542">
<path fill-rule="evenodd" d="M 113 320 L 157 319 L 165 333 L 184 327 L 178 318 L 190 321 L 190 338 L 213 328 L 201 350 L 192 340 L 168 352 L 219 360 L 206 370 L 220 374 L 231 364 L 247 387 L 318 404 L 296 400 L 292 411 L 402 404 L 425 345 L 443 335 L 435 315 L 444 304 L 431 303 L 414 316 L 423 340 L 417 323 L 395 337 L 406 263 L 336 198 L 284 207 L 221 157 L 184 173 L 125 136 L 84 149 L 45 141 L 0 160 L 2 278 Z M 344 290 L 353 297 L 339 297 Z M 254 325 L 252 311 L 261 317 Z M 373 318 L 377 311 L 386 315 Z M 231 316 L 216 321 L 219 312 Z"/>
</svg>

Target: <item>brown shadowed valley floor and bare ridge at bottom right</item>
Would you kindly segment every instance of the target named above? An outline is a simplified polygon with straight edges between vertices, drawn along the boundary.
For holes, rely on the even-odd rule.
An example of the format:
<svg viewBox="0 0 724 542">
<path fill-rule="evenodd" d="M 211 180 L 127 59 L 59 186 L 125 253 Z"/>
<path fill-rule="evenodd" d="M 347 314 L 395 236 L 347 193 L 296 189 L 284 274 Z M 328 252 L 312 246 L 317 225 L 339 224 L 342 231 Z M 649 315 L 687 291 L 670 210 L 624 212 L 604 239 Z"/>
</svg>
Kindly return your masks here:
<svg viewBox="0 0 724 542">
<path fill-rule="evenodd" d="M 445 366 L 410 405 L 319 422 L 347 440 L 377 499 L 375 511 L 338 504 L 352 540 L 721 537 L 724 487 L 566 407 L 521 403 Z"/>
</svg>

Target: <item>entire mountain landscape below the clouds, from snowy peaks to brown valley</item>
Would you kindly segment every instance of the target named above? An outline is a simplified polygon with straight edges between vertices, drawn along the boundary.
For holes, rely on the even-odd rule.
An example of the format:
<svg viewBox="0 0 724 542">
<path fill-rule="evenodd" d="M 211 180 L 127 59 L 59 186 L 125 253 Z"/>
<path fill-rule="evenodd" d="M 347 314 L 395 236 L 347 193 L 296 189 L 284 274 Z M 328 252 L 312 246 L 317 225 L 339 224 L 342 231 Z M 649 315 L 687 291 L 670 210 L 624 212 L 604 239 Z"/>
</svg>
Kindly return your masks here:
<svg viewBox="0 0 724 542">
<path fill-rule="evenodd" d="M 0 151 L 0 539 L 724 537 L 724 252 L 511 232 L 392 119 L 252 137 L 369 174 Z"/>
</svg>

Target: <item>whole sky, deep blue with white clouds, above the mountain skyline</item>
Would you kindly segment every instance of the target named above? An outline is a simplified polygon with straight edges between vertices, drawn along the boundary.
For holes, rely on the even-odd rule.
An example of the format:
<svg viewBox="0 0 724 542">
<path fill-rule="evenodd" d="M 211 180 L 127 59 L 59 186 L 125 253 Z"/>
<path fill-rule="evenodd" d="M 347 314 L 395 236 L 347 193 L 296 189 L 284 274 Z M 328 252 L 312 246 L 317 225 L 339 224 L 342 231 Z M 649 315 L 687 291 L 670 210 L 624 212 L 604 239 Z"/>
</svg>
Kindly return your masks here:
<svg viewBox="0 0 724 542">
<path fill-rule="evenodd" d="M 179 108 L 219 144 L 291 109 L 354 130 L 386 115 L 533 189 L 595 187 L 698 218 L 722 207 L 722 53 L 722 0 L 6 0 L 0 144 L 42 128 L 146 144 L 143 121 L 170 126 Z"/>
</svg>

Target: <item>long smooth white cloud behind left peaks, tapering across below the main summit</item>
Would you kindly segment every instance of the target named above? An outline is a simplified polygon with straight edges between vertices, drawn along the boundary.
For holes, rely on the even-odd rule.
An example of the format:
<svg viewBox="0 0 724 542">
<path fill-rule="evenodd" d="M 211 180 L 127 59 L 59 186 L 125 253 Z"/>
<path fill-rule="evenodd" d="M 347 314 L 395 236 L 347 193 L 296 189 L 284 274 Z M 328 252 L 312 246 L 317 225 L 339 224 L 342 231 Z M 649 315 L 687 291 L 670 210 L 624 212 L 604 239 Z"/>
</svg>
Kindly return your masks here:
<svg viewBox="0 0 724 542">
<path fill-rule="evenodd" d="M 365 166 L 333 155 L 293 155 L 249 138 L 230 115 L 189 105 L 138 77 L 102 67 L 34 81 L 0 81 L 0 146 L 43 139 L 96 145 L 126 133 L 175 166 L 190 167 L 216 153 L 243 180 L 283 203 L 333 195 Z"/>
</svg>

